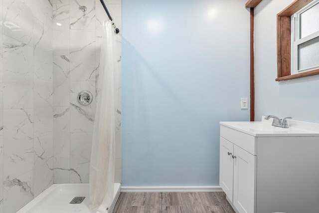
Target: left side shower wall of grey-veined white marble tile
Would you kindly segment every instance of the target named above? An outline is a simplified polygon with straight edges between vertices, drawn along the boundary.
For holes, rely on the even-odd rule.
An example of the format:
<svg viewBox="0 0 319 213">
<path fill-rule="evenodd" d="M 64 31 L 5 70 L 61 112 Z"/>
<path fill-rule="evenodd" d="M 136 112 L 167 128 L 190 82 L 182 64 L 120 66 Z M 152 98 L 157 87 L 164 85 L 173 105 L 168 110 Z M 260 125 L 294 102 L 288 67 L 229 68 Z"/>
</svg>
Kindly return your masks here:
<svg viewBox="0 0 319 213">
<path fill-rule="evenodd" d="M 53 184 L 52 2 L 0 13 L 0 213 L 15 213 Z"/>
</svg>

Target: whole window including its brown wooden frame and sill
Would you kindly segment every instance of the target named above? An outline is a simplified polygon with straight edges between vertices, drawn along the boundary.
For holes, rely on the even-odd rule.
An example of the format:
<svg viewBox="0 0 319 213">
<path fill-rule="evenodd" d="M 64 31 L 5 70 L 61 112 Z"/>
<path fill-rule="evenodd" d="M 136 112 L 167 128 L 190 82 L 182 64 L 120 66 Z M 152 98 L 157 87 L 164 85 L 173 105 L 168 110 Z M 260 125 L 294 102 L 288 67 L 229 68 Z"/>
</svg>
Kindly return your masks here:
<svg viewBox="0 0 319 213">
<path fill-rule="evenodd" d="M 277 14 L 277 78 L 319 74 L 319 0 L 295 0 Z"/>
</svg>

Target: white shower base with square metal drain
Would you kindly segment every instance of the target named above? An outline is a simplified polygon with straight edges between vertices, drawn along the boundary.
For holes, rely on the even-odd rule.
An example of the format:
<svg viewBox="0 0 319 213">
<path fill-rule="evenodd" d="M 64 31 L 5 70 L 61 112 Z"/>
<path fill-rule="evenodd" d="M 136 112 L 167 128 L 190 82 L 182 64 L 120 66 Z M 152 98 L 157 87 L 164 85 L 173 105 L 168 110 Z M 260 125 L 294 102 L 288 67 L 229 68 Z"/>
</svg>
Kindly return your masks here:
<svg viewBox="0 0 319 213">
<path fill-rule="evenodd" d="M 121 184 L 114 184 L 112 213 L 121 192 Z M 86 197 L 81 204 L 70 204 L 74 197 Z M 89 184 L 53 184 L 17 213 L 98 213 L 89 209 Z"/>
</svg>

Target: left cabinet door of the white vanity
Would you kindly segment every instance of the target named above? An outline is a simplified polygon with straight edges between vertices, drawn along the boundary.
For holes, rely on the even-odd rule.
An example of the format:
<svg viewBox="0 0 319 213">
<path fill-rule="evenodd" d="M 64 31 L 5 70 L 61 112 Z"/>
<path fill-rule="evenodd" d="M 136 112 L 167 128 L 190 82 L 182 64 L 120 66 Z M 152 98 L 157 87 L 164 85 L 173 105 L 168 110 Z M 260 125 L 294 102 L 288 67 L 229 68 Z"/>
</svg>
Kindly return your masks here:
<svg viewBox="0 0 319 213">
<path fill-rule="evenodd" d="M 228 153 L 231 154 L 229 155 Z M 234 145 L 220 137 L 219 186 L 223 189 L 231 202 L 233 201 L 233 153 Z"/>
</svg>

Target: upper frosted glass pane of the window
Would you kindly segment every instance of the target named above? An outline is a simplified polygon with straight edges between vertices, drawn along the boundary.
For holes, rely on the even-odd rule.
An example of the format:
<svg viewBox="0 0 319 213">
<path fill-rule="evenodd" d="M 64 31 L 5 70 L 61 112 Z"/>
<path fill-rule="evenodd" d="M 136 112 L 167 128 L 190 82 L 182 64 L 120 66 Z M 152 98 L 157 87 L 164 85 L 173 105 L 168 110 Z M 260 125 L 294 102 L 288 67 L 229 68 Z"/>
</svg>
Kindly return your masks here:
<svg viewBox="0 0 319 213">
<path fill-rule="evenodd" d="M 300 38 L 319 31 L 319 3 L 300 14 Z"/>
</svg>

